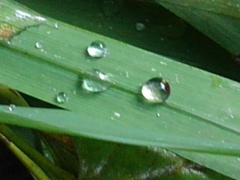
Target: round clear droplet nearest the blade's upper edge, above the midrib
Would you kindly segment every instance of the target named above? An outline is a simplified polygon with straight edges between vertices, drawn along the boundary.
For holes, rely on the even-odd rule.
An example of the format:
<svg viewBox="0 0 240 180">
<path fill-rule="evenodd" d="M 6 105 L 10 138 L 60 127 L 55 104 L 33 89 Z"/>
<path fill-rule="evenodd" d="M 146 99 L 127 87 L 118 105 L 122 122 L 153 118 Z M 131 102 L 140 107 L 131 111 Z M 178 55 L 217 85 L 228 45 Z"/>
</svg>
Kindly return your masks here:
<svg viewBox="0 0 240 180">
<path fill-rule="evenodd" d="M 94 41 L 88 46 L 87 52 L 93 58 L 102 58 L 107 55 L 107 48 L 104 42 Z"/>
</svg>

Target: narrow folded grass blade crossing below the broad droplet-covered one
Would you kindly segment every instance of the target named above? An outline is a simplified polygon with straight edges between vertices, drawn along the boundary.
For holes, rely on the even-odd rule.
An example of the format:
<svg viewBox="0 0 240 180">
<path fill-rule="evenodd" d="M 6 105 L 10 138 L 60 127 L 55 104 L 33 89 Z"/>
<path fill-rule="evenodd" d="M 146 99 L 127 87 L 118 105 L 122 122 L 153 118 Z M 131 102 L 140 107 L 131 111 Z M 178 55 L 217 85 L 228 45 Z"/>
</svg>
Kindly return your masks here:
<svg viewBox="0 0 240 180">
<path fill-rule="evenodd" d="M 229 135 L 225 132 L 222 135 L 225 137 L 231 136 L 236 141 L 233 141 L 233 139 L 231 141 L 216 140 L 218 137 L 215 137 L 215 140 L 209 140 L 202 135 L 199 135 L 199 137 L 189 137 L 188 134 L 179 136 L 174 131 L 170 134 L 162 131 L 152 132 L 151 129 L 145 128 L 145 124 L 132 127 L 130 124 L 121 121 L 93 119 L 63 110 L 17 107 L 10 112 L 6 109 L 6 106 L 0 107 L 1 122 L 74 136 L 167 148 L 184 157 L 191 157 L 190 159 L 194 159 L 210 168 L 213 168 L 214 164 L 217 163 L 217 167 L 222 169 L 221 173 L 230 177 L 237 177 L 239 172 L 240 146 L 238 141 L 240 137 L 236 136 L 234 138 L 231 133 Z M 196 126 L 199 125 L 196 124 Z M 216 134 L 216 130 L 213 130 L 210 126 L 208 128 L 213 131 L 211 136 Z M 219 133 L 223 132 L 219 129 Z M 226 161 L 228 166 L 225 166 Z"/>
</svg>

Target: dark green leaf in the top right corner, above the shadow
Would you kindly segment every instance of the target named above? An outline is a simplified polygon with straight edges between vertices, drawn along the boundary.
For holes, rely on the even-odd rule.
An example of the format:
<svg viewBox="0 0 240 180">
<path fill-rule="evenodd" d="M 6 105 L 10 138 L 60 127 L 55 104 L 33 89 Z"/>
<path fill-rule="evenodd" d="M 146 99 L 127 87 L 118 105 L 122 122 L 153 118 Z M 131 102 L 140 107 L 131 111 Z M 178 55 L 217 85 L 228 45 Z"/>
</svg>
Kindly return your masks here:
<svg viewBox="0 0 240 180">
<path fill-rule="evenodd" d="M 240 4 L 238 0 L 157 0 L 232 54 L 239 54 Z"/>
</svg>

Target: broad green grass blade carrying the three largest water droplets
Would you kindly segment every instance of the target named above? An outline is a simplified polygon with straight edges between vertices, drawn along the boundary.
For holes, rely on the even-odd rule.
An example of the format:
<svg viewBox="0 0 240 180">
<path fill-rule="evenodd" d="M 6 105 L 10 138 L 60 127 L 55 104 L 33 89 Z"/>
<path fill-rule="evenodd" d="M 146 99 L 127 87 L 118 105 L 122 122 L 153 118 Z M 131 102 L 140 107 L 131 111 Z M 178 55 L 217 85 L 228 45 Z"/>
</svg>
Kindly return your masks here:
<svg viewBox="0 0 240 180">
<path fill-rule="evenodd" d="M 140 136 L 142 131 L 137 130 L 140 127 L 141 130 L 149 132 L 152 138 L 157 139 L 160 136 L 159 132 L 165 135 L 164 137 L 172 137 L 172 133 L 175 133 L 178 137 L 187 135 L 198 139 L 206 138 L 210 143 L 205 151 L 209 152 L 214 141 L 216 141 L 214 145 L 219 146 L 225 142 L 230 144 L 239 142 L 240 112 L 237 109 L 238 102 L 235 101 L 239 98 L 239 83 L 64 23 L 58 22 L 59 29 L 56 29 L 55 22 L 48 19 L 45 24 L 25 29 L 14 36 L 10 45 L 3 42 L 0 47 L 1 83 L 91 117 L 88 121 L 82 122 L 81 125 L 87 126 L 82 131 L 90 128 L 89 133 L 95 134 L 94 137 L 100 139 L 106 139 L 107 135 L 111 141 L 141 145 L 144 137 Z M 109 51 L 108 56 L 99 61 L 89 60 L 86 56 L 86 47 L 94 40 L 103 40 Z M 41 43 L 42 50 L 35 48 L 36 42 Z M 82 76 L 91 68 L 113 75 L 114 84 L 110 90 L 96 95 L 81 89 Z M 140 85 L 160 74 L 171 85 L 172 94 L 168 104 L 162 106 L 147 104 L 140 97 Z M 69 101 L 58 104 L 55 98 L 62 91 L 68 94 Z M 120 117 L 116 116 L 116 113 L 120 114 Z M 160 114 L 160 117 L 157 114 Z M 47 113 L 45 115 L 45 121 L 51 119 L 47 117 Z M 12 118 L 11 116 L 7 119 L 8 122 Z M 56 126 L 59 123 L 58 118 L 61 117 L 54 116 L 51 119 Z M 32 120 L 30 118 L 28 122 Z M 116 137 L 112 137 L 115 131 L 107 126 L 111 121 L 128 128 L 127 133 L 119 132 Z M 30 125 L 21 121 L 19 123 L 27 127 Z M 73 133 L 73 130 L 67 128 L 66 123 L 68 118 L 62 121 L 61 125 L 65 127 L 59 132 Z M 71 123 L 72 126 L 79 127 L 76 120 Z M 36 128 L 47 130 L 49 127 L 37 124 Z M 82 133 L 79 129 L 75 131 Z M 137 141 L 129 140 L 134 133 Z M 148 140 L 145 139 L 144 142 L 152 143 Z M 196 147 L 194 140 L 189 141 L 186 147 L 191 149 L 192 146 Z M 227 151 L 226 145 L 225 152 Z M 237 148 L 235 147 L 233 151 L 237 152 Z M 233 151 L 229 151 L 230 154 Z M 189 155 L 187 153 L 184 157 L 194 159 L 196 162 L 204 159 L 203 165 L 230 177 L 237 177 L 239 172 L 239 162 L 233 162 L 231 158 L 225 156 L 221 156 L 221 160 L 217 156 L 209 158 L 204 154 L 196 154 L 192 158 L 192 153 Z M 234 168 L 219 166 L 218 163 L 222 164 L 223 161 L 233 164 Z"/>
</svg>

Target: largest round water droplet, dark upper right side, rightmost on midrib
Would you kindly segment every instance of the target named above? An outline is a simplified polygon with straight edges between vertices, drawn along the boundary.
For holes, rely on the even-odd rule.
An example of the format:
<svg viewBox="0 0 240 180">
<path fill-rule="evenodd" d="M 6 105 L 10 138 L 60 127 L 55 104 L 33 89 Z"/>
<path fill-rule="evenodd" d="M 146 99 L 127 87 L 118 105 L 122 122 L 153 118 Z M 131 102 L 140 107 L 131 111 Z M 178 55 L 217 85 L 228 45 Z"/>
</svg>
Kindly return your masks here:
<svg viewBox="0 0 240 180">
<path fill-rule="evenodd" d="M 144 98 L 151 103 L 163 103 L 170 95 L 170 85 L 162 78 L 152 78 L 141 89 Z"/>
</svg>

